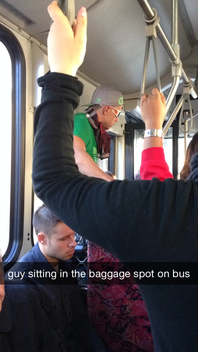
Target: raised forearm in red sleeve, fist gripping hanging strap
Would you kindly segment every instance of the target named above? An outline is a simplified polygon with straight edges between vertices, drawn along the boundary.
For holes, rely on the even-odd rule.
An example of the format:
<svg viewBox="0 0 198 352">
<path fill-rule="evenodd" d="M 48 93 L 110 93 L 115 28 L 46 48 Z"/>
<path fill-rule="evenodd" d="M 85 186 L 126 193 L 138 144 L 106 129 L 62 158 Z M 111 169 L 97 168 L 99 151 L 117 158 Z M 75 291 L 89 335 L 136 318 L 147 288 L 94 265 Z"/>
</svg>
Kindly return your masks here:
<svg viewBox="0 0 198 352">
<path fill-rule="evenodd" d="M 162 130 L 165 107 L 164 94 L 160 94 L 157 88 L 153 88 L 150 95 L 142 95 L 141 113 L 146 130 Z M 146 137 L 144 139 L 140 174 L 142 180 L 151 180 L 153 177 L 157 177 L 160 181 L 164 181 L 165 178 L 173 178 L 165 160 L 161 137 Z"/>
</svg>

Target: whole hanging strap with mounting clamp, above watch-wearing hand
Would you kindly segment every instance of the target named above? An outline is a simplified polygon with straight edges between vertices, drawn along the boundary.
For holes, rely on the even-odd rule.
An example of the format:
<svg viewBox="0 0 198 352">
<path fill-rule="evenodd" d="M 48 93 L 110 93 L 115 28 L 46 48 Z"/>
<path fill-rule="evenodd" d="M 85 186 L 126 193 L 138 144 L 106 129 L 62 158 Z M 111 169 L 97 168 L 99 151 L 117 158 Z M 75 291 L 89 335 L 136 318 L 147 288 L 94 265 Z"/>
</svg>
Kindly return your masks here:
<svg viewBox="0 0 198 352">
<path fill-rule="evenodd" d="M 142 96 L 142 94 L 144 94 L 144 91 L 145 91 L 146 74 L 147 74 L 147 68 L 148 68 L 148 56 L 149 56 L 149 49 L 150 49 L 151 40 L 152 40 L 152 44 L 153 44 L 153 55 L 154 55 L 154 60 L 155 60 L 155 70 L 156 70 L 156 75 L 157 75 L 158 89 L 159 89 L 159 92 L 161 93 L 161 84 L 160 84 L 160 76 L 159 76 L 159 69 L 158 69 L 157 52 L 155 49 L 155 39 L 157 38 L 157 32 L 156 32 L 155 27 L 159 23 L 159 16 L 158 16 L 155 8 L 153 8 L 153 11 L 154 11 L 154 17 L 151 20 L 148 20 L 144 17 L 145 22 L 147 22 L 147 23 L 153 22 L 153 24 L 145 27 L 146 48 L 145 48 L 145 57 L 144 57 L 144 63 L 143 63 L 141 96 Z"/>
</svg>

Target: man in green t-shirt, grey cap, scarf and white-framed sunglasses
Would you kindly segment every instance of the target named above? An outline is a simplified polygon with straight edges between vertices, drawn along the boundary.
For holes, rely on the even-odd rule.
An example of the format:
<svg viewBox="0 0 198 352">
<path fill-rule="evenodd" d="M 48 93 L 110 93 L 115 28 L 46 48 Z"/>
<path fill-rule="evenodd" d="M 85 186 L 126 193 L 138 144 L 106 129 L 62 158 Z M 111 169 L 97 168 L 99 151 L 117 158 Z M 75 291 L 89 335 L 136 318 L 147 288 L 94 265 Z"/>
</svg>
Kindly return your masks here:
<svg viewBox="0 0 198 352">
<path fill-rule="evenodd" d="M 112 177 L 97 166 L 97 158 L 108 158 L 111 137 L 107 134 L 121 114 L 122 93 L 105 84 L 95 89 L 85 113 L 74 117 L 74 151 L 82 174 L 112 181 Z"/>
</svg>

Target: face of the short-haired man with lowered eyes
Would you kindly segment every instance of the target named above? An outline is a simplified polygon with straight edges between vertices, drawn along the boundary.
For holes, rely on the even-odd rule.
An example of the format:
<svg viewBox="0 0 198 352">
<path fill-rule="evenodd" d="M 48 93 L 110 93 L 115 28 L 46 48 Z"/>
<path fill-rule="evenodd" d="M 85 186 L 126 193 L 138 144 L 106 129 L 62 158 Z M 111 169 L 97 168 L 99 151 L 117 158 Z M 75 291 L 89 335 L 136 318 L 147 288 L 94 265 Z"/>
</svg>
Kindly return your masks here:
<svg viewBox="0 0 198 352">
<path fill-rule="evenodd" d="M 46 236 L 45 254 L 46 259 L 50 262 L 56 260 L 71 259 L 77 243 L 72 231 L 62 221 L 58 222 L 53 228 L 53 233 Z"/>
</svg>

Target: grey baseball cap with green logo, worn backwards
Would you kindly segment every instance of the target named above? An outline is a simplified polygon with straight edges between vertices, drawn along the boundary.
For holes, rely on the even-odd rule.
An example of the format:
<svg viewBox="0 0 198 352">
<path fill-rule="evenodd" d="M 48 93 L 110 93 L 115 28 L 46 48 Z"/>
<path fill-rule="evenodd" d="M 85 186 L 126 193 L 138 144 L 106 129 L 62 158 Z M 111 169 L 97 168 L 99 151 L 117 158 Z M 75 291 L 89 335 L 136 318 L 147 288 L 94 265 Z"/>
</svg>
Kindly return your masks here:
<svg viewBox="0 0 198 352">
<path fill-rule="evenodd" d="M 94 90 L 90 104 L 81 106 L 91 106 L 95 104 L 107 106 L 123 105 L 122 93 L 114 87 L 109 86 L 109 84 L 104 84 Z"/>
</svg>

